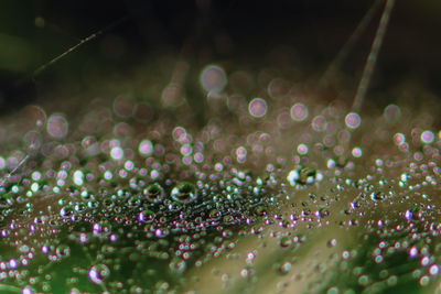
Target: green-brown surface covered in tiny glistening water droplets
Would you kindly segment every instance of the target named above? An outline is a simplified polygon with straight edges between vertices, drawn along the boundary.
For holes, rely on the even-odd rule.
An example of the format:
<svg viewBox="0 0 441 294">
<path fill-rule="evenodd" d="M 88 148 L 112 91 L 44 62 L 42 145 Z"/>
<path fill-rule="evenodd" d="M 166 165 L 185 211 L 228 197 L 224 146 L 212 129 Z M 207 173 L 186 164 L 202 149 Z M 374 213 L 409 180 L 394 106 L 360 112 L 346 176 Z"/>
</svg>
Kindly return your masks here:
<svg viewBox="0 0 441 294">
<path fill-rule="evenodd" d="M 160 56 L 3 116 L 0 292 L 439 287 L 439 97 L 354 112 L 256 67 Z"/>
</svg>

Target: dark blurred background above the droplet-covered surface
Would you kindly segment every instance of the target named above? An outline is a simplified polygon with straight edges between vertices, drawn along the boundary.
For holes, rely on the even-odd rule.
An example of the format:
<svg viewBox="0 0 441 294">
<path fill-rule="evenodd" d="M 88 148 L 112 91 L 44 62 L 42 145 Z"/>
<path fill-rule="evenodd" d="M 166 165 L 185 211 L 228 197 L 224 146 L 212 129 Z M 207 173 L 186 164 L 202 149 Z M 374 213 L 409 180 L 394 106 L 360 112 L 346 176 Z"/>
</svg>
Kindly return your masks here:
<svg viewBox="0 0 441 294">
<path fill-rule="evenodd" d="M 84 1 L 0 2 L 0 110 L 39 98 L 52 85 L 108 70 L 125 73 L 170 52 L 190 62 L 229 59 L 266 66 L 270 52 L 289 48 L 281 66 L 320 76 L 374 1 Z M 373 90 L 415 79 L 440 94 L 441 4 L 397 1 L 381 48 Z M 381 10 L 381 8 L 380 8 Z M 359 77 L 376 25 L 341 70 Z M 80 40 L 103 30 L 39 75 L 32 73 Z M 286 55 L 287 55 L 286 54 Z"/>
</svg>

